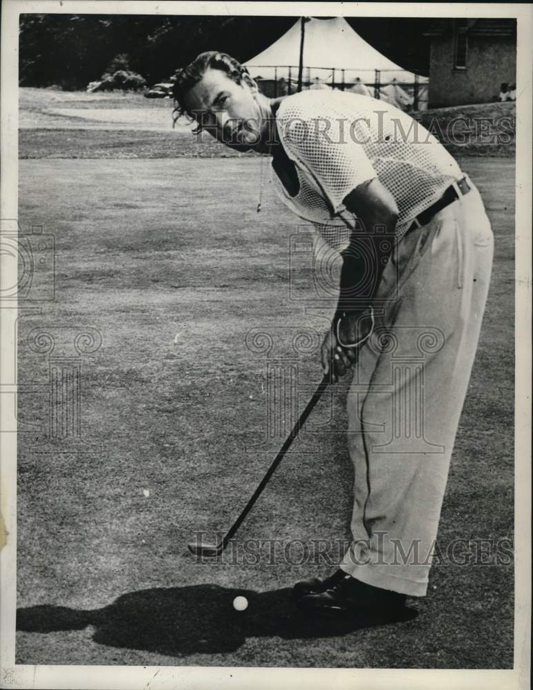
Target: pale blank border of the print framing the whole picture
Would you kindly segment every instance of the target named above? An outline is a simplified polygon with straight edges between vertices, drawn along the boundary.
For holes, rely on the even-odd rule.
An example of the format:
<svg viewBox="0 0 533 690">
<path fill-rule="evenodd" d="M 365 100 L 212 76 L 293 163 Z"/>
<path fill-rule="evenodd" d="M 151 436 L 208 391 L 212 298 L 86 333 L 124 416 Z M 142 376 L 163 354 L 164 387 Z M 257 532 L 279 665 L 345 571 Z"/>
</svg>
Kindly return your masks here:
<svg viewBox="0 0 533 690">
<path fill-rule="evenodd" d="M 104 667 L 14 664 L 17 540 L 17 442 L 0 435 L 0 684 L 5 688 L 127 689 L 289 688 L 309 690 L 391 687 L 448 690 L 529 687 L 531 620 L 531 326 L 532 326 L 532 14 L 530 4 L 504 3 L 302 3 L 157 2 L 94 0 L 3 0 L 1 15 L 1 188 L 0 217 L 18 216 L 18 34 L 21 13 L 62 14 L 249 14 L 345 17 L 515 17 L 516 226 L 515 226 L 515 609 L 514 668 L 509 670 L 434 669 L 261 669 L 240 667 Z M 17 261 L 1 256 L 1 273 L 17 282 Z M 13 284 L 12 282 L 8 284 Z M 0 308 L 0 382 L 16 378 L 14 310 Z M 16 318 L 16 313 L 15 313 Z M 3 419 L 3 411 L 0 408 Z M 0 428 L 3 428 L 0 427 Z M 443 611 L 443 615 L 446 612 Z M 497 634 L 497 631 L 494 631 Z"/>
</svg>

